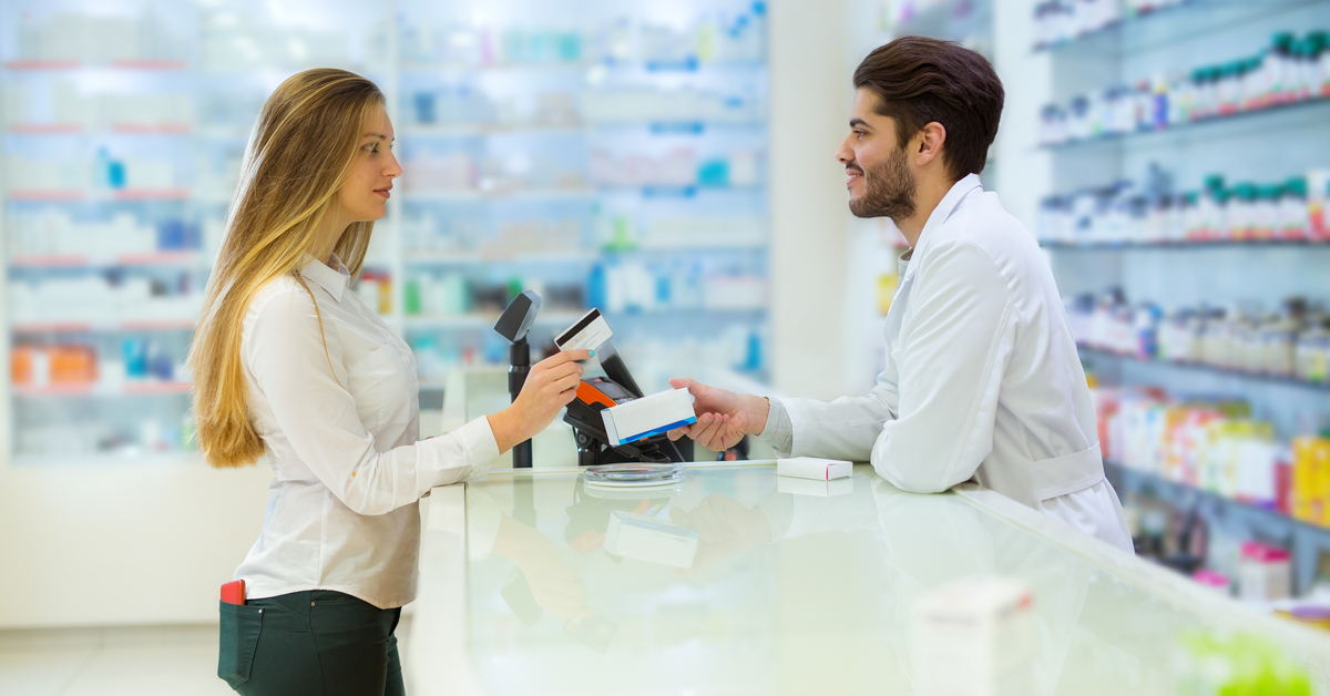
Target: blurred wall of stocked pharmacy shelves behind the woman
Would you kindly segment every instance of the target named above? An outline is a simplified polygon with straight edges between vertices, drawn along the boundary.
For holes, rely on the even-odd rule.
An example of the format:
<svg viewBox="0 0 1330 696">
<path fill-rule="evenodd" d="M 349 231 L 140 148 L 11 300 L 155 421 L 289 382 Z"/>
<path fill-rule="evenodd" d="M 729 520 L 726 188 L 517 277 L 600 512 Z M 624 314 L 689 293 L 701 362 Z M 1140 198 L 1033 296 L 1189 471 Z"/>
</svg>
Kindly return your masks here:
<svg viewBox="0 0 1330 696">
<path fill-rule="evenodd" d="M 197 459 L 184 361 L 246 138 L 311 67 L 387 97 L 404 176 L 356 291 L 415 350 L 426 409 L 448 370 L 505 359 L 491 326 L 523 289 L 545 299 L 539 342 L 598 306 L 634 365 L 766 377 L 762 3 L 4 0 L 0 17 L 17 464 Z"/>
</svg>

